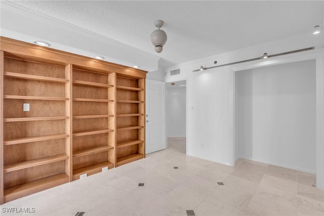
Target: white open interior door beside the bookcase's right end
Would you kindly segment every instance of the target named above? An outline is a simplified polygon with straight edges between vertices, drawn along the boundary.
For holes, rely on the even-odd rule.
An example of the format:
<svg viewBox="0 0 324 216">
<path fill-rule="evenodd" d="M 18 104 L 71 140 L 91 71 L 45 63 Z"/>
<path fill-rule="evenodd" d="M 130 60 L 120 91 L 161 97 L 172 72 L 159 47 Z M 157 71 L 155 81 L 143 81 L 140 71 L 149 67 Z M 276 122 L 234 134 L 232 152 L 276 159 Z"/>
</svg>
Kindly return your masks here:
<svg viewBox="0 0 324 216">
<path fill-rule="evenodd" d="M 146 80 L 145 154 L 166 149 L 166 83 Z"/>
</svg>

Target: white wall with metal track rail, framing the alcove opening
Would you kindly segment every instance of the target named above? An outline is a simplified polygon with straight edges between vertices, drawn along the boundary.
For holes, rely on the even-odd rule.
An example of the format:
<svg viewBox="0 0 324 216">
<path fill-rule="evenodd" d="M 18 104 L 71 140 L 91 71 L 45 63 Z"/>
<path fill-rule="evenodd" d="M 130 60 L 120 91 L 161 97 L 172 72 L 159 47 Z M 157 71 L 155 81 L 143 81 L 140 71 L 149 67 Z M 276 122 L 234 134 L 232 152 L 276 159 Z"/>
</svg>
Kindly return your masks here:
<svg viewBox="0 0 324 216">
<path fill-rule="evenodd" d="M 166 68 L 166 71 L 181 69 L 177 76 L 166 76 L 166 82 L 187 80 L 187 154 L 195 157 L 233 165 L 233 83 L 236 70 L 266 65 L 316 59 L 316 186 L 324 188 L 324 75 L 323 34 L 311 32 L 294 35 L 269 43 L 210 56 Z M 192 72 L 200 66 L 214 66 L 234 61 L 256 58 L 267 52 L 269 55 L 307 47 L 313 51 L 260 59 L 254 62 L 235 64 L 204 71 Z"/>
</svg>

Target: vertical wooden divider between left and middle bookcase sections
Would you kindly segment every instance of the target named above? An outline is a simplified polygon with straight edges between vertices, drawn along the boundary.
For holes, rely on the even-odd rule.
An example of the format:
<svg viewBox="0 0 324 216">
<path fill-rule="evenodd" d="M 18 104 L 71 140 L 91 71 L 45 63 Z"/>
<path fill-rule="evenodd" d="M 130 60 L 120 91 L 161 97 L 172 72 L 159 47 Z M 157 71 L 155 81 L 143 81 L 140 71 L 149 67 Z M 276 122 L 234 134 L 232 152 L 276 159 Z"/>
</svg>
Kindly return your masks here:
<svg viewBox="0 0 324 216">
<path fill-rule="evenodd" d="M 65 97 L 69 100 L 65 101 L 65 116 L 69 118 L 65 120 L 65 133 L 69 134 L 69 137 L 65 138 L 65 153 L 69 156 L 69 160 L 65 162 L 65 172 L 69 176 L 69 181 L 72 181 L 73 167 L 72 167 L 72 64 L 68 64 L 65 67 L 65 79 L 69 80 L 65 84 Z"/>
</svg>

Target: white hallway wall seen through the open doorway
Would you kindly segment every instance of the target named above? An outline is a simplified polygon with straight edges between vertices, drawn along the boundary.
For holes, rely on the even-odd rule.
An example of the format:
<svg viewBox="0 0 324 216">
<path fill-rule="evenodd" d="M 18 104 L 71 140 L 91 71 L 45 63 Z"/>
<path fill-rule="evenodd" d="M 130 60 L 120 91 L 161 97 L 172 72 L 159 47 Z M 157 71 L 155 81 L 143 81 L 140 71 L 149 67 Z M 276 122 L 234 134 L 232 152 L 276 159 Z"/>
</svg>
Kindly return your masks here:
<svg viewBox="0 0 324 216">
<path fill-rule="evenodd" d="M 186 137 L 186 88 L 167 88 L 167 137 Z"/>
</svg>

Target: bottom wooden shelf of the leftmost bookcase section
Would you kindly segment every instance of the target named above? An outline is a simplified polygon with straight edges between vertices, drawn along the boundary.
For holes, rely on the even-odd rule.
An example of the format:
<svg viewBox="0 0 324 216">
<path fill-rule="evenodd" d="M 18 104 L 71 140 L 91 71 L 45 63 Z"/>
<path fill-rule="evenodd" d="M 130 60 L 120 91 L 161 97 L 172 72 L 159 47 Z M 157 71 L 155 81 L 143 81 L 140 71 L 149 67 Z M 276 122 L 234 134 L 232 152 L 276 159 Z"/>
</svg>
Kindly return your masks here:
<svg viewBox="0 0 324 216">
<path fill-rule="evenodd" d="M 9 202 L 68 182 L 69 176 L 66 173 L 61 173 L 16 185 L 4 190 L 4 201 Z"/>
</svg>

